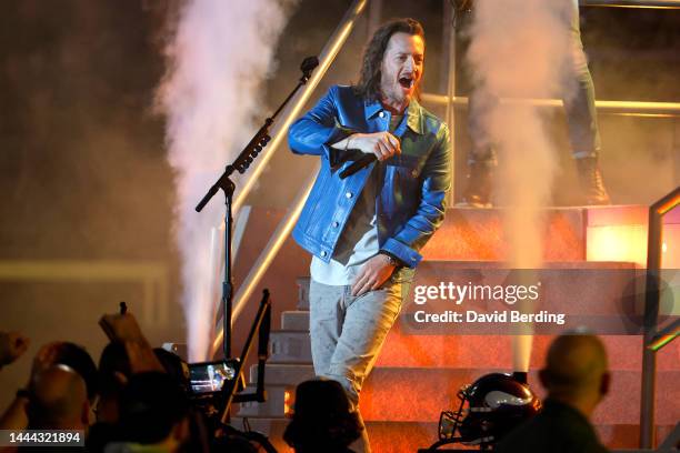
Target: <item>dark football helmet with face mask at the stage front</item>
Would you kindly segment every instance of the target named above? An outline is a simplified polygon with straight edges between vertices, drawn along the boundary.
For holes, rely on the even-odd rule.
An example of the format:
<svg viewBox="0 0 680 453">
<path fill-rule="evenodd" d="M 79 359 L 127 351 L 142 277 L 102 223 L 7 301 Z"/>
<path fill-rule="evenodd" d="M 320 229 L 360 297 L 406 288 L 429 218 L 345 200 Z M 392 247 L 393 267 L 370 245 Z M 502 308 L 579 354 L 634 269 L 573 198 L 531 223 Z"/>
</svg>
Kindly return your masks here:
<svg viewBox="0 0 680 453">
<path fill-rule="evenodd" d="M 481 376 L 461 387 L 458 397 L 458 411 L 444 411 L 439 419 L 441 444 L 492 445 L 541 410 L 531 389 L 504 373 Z"/>
</svg>

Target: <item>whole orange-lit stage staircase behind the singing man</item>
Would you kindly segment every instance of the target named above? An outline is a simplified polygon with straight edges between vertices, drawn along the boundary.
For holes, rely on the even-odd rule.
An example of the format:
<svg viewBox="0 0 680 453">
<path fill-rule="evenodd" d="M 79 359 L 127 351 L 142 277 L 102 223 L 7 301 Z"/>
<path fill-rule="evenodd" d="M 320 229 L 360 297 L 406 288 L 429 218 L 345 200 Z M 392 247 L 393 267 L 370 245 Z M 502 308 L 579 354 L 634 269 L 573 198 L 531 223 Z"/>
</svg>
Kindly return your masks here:
<svg viewBox="0 0 680 453">
<path fill-rule="evenodd" d="M 563 303 L 572 300 L 577 313 L 597 304 L 598 313 L 614 320 L 626 318 L 629 313 L 620 304 L 620 294 L 634 293 L 638 282 L 608 278 L 608 272 L 641 274 L 647 253 L 646 212 L 644 207 L 547 210 L 544 266 L 552 271 L 553 279 L 562 279 L 557 286 L 563 289 L 551 298 L 562 298 Z M 461 272 L 498 272 L 504 268 L 502 215 L 502 209 L 449 209 L 443 226 L 423 250 L 426 261 L 413 285 L 434 284 L 450 275 L 460 276 Z M 680 214 L 670 213 L 664 222 L 664 268 L 678 269 Z M 271 334 L 266 381 L 269 400 L 242 404 L 232 417 L 237 427 L 248 419 L 250 426 L 267 433 L 281 452 L 291 451 L 281 435 L 294 386 L 313 378 L 308 284 L 309 279 L 298 279 L 297 306 L 282 313 L 281 329 Z M 627 322 L 634 329 L 634 320 Z M 541 397 L 544 393 L 537 372 L 552 338 L 553 332 L 533 339 L 529 383 Z M 639 441 L 642 338 L 619 333 L 602 335 L 602 340 L 609 353 L 612 389 L 593 421 L 610 449 L 633 449 Z M 680 420 L 680 343 L 663 350 L 657 366 L 657 439 L 661 440 Z M 512 371 L 510 336 L 461 334 L 454 326 L 437 334 L 414 334 L 412 324 L 398 321 L 361 395 L 361 412 L 373 451 L 416 452 L 430 445 L 437 440 L 440 411 L 457 407 L 459 387 L 497 371 Z M 249 379 L 252 385 L 254 368 Z"/>
</svg>

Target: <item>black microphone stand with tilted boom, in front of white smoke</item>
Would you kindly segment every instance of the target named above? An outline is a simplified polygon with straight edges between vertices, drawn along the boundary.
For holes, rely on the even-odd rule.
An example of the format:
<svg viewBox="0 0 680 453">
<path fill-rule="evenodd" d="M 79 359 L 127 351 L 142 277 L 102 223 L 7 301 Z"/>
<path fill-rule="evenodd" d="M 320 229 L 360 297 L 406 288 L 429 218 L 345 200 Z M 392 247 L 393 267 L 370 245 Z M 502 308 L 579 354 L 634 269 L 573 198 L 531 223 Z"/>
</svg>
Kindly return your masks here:
<svg viewBox="0 0 680 453">
<path fill-rule="evenodd" d="M 234 171 L 239 171 L 239 173 L 244 173 L 246 170 L 250 167 L 253 160 L 258 157 L 258 154 L 262 151 L 271 137 L 269 135 L 269 128 L 273 124 L 274 118 L 283 110 L 286 104 L 292 99 L 292 97 L 298 92 L 298 90 L 306 84 L 314 68 L 319 66 L 319 60 L 317 57 L 308 57 L 300 64 L 300 70 L 302 71 L 302 77 L 298 81 L 296 88 L 291 91 L 291 93 L 286 98 L 283 103 L 273 112 L 273 114 L 264 120 L 264 124 L 256 132 L 252 140 L 243 148 L 241 153 L 236 158 L 231 164 L 227 165 L 224 172 L 218 180 L 210 187 L 208 193 L 201 199 L 201 201 L 197 204 L 196 211 L 201 212 L 201 210 L 208 204 L 210 199 L 214 197 L 214 194 L 221 189 L 224 191 L 226 199 L 226 209 L 227 214 L 224 217 L 224 281 L 222 283 L 222 319 L 223 319 L 223 336 L 222 336 L 222 349 L 224 352 L 224 360 L 231 358 L 231 311 L 232 311 L 232 299 L 233 299 L 233 281 L 232 281 L 232 272 L 231 272 L 231 241 L 232 241 L 232 202 L 233 202 L 233 192 L 236 191 L 236 184 L 230 179 L 231 174 Z"/>
</svg>

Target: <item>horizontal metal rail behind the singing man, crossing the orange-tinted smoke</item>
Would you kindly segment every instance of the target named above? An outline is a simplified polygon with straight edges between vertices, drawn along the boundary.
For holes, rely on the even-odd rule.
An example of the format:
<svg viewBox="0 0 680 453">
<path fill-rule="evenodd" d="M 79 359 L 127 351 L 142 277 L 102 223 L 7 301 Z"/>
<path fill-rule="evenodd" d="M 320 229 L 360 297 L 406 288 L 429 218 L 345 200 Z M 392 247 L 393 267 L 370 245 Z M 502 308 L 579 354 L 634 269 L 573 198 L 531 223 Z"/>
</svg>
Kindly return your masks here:
<svg viewBox="0 0 680 453">
<path fill-rule="evenodd" d="M 447 105 L 449 97 L 443 94 L 422 93 L 421 100 L 434 104 Z M 501 103 L 531 104 L 536 107 L 562 107 L 561 99 L 518 99 L 503 98 Z M 451 103 L 456 107 L 468 107 L 468 98 L 453 97 Z M 654 115 L 654 117 L 680 117 L 680 102 L 643 102 L 643 101 L 596 101 L 596 108 L 602 113 Z"/>
</svg>

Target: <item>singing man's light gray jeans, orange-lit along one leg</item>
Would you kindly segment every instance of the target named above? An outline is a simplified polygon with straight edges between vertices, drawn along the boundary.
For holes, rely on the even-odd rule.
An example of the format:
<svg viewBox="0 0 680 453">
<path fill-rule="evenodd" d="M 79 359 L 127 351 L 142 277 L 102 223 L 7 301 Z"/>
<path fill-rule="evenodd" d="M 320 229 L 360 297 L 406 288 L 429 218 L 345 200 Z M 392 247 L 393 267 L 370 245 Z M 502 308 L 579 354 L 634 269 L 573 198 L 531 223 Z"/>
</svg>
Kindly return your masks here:
<svg viewBox="0 0 680 453">
<path fill-rule="evenodd" d="M 394 280 L 360 296 L 352 296 L 349 285 L 329 286 L 311 281 L 310 335 L 314 372 L 340 382 L 357 412 L 363 381 L 409 292 L 410 280 Z M 366 430 L 358 451 L 370 451 Z"/>
</svg>

